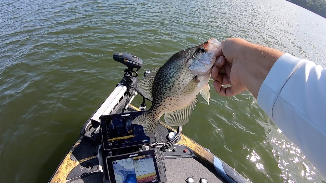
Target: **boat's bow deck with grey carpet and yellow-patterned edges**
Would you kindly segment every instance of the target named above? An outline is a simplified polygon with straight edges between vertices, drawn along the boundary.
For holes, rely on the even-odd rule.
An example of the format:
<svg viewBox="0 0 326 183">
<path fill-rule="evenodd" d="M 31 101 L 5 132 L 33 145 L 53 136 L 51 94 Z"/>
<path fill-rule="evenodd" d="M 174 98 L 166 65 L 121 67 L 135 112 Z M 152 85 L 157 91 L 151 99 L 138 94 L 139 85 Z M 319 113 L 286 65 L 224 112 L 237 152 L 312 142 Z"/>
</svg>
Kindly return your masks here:
<svg viewBox="0 0 326 183">
<path fill-rule="evenodd" d="M 139 110 L 132 105 L 128 109 L 129 111 Z M 158 143 L 167 142 L 167 136 L 172 131 L 176 132 L 175 129 L 161 122 L 156 128 L 156 141 Z M 103 151 L 100 147 L 101 145 L 96 146 L 92 140 L 81 136 L 57 167 L 49 182 L 110 182 L 103 158 L 116 155 L 119 152 L 114 150 L 111 152 Z M 132 148 L 137 151 L 139 147 Z M 173 148 L 175 150 L 171 150 Z M 229 165 L 184 134 L 181 134 L 181 138 L 174 146 L 163 150 L 161 154 L 165 162 L 167 183 L 185 182 L 188 177 L 193 177 L 195 182 L 199 182 L 201 177 L 206 178 L 211 183 L 247 182 Z"/>
</svg>

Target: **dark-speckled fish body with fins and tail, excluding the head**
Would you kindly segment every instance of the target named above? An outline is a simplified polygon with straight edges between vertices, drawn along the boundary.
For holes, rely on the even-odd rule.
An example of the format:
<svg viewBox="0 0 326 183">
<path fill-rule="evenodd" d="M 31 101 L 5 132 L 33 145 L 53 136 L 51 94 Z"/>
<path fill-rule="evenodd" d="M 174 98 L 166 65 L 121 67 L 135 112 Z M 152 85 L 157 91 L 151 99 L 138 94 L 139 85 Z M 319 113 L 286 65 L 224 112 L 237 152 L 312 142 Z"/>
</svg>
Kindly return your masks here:
<svg viewBox="0 0 326 183">
<path fill-rule="evenodd" d="M 175 53 L 157 73 L 153 72 L 152 76 L 140 81 L 140 91 L 153 100 L 150 109 L 133 120 L 133 124 L 144 126 L 146 135 L 154 133 L 163 114 L 167 124 L 172 126 L 184 125 L 189 121 L 197 103 L 196 95 L 210 77 L 207 74 L 191 74 L 187 66 L 187 61 L 197 49 L 198 46 Z"/>
</svg>

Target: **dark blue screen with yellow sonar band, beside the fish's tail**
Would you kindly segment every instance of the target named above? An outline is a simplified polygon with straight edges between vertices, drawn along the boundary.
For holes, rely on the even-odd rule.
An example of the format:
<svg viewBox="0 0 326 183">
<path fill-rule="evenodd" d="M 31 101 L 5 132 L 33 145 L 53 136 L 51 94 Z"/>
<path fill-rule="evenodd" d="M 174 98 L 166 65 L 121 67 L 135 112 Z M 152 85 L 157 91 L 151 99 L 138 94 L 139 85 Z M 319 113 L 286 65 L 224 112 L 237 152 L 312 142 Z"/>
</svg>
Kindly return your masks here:
<svg viewBox="0 0 326 183">
<path fill-rule="evenodd" d="M 134 118 L 106 120 L 106 149 L 150 143 L 150 137 L 144 134 L 143 126 L 131 123 Z"/>
</svg>

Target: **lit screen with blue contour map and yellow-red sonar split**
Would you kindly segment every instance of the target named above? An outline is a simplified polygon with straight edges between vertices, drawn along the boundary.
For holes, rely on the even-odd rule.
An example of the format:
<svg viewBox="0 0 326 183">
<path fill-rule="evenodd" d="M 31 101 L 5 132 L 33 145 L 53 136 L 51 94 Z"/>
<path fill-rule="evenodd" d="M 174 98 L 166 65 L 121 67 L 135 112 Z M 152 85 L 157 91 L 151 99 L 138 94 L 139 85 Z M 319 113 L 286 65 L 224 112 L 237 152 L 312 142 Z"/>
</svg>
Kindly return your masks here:
<svg viewBox="0 0 326 183">
<path fill-rule="evenodd" d="M 152 154 L 112 161 L 115 183 L 156 182 Z"/>
</svg>

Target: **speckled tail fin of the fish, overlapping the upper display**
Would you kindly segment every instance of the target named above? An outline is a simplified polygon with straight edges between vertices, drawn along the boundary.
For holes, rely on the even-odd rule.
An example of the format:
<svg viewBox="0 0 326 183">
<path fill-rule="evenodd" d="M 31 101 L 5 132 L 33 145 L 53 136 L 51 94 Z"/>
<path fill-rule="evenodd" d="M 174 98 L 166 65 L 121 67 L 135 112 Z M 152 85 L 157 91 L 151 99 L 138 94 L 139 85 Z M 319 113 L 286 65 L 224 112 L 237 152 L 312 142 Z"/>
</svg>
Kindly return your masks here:
<svg viewBox="0 0 326 183">
<path fill-rule="evenodd" d="M 152 113 L 146 111 L 136 117 L 131 123 L 143 126 L 145 135 L 152 136 L 159 121 Z"/>
</svg>

